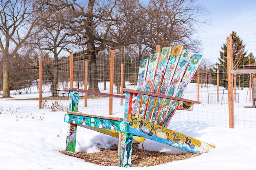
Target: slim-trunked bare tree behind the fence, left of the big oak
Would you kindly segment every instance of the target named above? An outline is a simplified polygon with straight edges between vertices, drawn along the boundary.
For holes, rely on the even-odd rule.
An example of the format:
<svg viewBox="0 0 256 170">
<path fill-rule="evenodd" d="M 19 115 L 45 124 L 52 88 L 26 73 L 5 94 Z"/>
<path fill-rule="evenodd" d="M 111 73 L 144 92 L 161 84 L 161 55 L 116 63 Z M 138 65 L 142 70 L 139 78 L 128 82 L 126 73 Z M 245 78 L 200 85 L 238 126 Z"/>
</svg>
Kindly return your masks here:
<svg viewBox="0 0 256 170">
<path fill-rule="evenodd" d="M 42 30 L 38 37 L 35 38 L 36 44 L 40 50 L 47 51 L 53 54 L 53 62 L 57 63 L 60 53 L 63 51 L 70 51 L 68 45 L 72 43 L 72 39 L 68 37 L 68 26 L 63 22 L 67 20 L 67 9 L 63 8 L 64 1 L 41 1 L 40 3 L 44 8 L 40 9 L 40 24 L 38 27 Z M 46 66 L 50 66 L 49 64 Z M 58 96 L 58 71 L 59 65 L 51 67 L 49 74 L 52 85 L 50 91 L 52 96 Z"/>
</svg>

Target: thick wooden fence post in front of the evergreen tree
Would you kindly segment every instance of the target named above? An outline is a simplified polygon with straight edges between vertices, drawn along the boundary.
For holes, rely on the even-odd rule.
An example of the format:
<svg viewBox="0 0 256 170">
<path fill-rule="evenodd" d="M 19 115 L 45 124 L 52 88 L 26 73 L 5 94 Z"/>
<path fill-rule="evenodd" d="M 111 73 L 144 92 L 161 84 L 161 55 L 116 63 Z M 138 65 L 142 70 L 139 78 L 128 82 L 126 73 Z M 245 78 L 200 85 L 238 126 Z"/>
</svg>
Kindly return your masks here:
<svg viewBox="0 0 256 170">
<path fill-rule="evenodd" d="M 232 36 L 227 37 L 227 61 L 228 61 L 228 113 L 229 128 L 234 128 L 234 98 L 233 98 L 233 76 L 231 70 L 233 68 L 233 51 Z"/>
</svg>

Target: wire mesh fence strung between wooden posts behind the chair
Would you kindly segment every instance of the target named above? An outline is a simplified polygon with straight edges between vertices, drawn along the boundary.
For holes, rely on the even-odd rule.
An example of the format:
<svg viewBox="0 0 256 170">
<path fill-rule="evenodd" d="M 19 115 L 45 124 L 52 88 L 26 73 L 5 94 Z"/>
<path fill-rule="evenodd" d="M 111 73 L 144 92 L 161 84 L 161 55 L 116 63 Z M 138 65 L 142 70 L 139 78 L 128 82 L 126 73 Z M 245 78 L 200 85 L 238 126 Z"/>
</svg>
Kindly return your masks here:
<svg viewBox="0 0 256 170">
<path fill-rule="evenodd" d="M 233 69 L 253 70 L 255 69 L 253 64 L 255 60 L 253 61 L 252 58 L 256 54 L 256 40 L 254 38 L 253 41 L 249 37 L 256 37 L 256 34 L 240 35 L 239 37 L 243 40 L 244 48 L 241 48 L 240 44 L 238 45 L 240 41 L 238 41 L 237 37 L 233 37 L 233 43 L 235 42 L 234 46 L 236 46 L 233 49 L 233 54 L 236 54 L 233 57 Z M 166 43 L 166 46 L 168 46 L 168 43 Z M 193 111 L 176 111 L 172 121 L 191 121 L 228 127 L 226 37 L 204 39 L 203 46 L 202 55 L 204 60 L 200 64 L 200 71 L 195 74 L 184 96 L 187 99 L 199 100 L 201 104 L 194 105 Z M 128 47 L 105 49 L 104 51 L 83 51 L 73 54 L 73 87 L 84 89 L 85 61 L 88 61 L 87 89 L 109 93 L 111 50 L 114 50 L 113 94 L 121 94 L 121 64 L 124 65 L 123 87 L 136 89 L 139 61 L 149 57 L 151 53 L 155 53 L 155 48 L 152 48 L 150 53 L 145 55 L 138 55 L 137 49 Z M 62 57 L 56 60 L 50 57 L 44 58 L 42 75 L 43 100 L 54 96 L 61 99 L 62 104 L 67 107 L 68 93 L 63 91 L 63 88 L 70 87 L 69 57 Z M 256 88 L 255 75 L 248 72 L 233 74 L 235 94 L 234 122 L 236 128 L 252 129 L 256 127 L 256 108 L 253 106 L 253 96 L 256 95 L 253 91 Z M 95 107 L 100 108 L 100 111 L 99 109 L 96 111 Z M 88 95 L 87 107 L 84 107 L 84 94 L 81 93 L 79 111 L 91 114 L 108 114 L 109 100 L 106 97 Z M 122 117 L 123 111 L 124 106 L 121 100 L 114 98 L 113 115 Z"/>
</svg>

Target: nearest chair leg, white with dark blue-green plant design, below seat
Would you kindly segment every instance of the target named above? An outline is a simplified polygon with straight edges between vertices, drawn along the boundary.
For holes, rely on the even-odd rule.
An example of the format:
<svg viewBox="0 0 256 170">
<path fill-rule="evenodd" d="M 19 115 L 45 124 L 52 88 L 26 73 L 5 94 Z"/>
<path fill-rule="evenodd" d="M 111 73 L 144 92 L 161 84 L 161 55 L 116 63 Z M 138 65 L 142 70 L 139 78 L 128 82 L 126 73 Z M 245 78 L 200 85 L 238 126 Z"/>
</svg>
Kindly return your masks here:
<svg viewBox="0 0 256 170">
<path fill-rule="evenodd" d="M 132 133 L 121 133 L 120 166 L 130 167 L 132 158 Z"/>
</svg>

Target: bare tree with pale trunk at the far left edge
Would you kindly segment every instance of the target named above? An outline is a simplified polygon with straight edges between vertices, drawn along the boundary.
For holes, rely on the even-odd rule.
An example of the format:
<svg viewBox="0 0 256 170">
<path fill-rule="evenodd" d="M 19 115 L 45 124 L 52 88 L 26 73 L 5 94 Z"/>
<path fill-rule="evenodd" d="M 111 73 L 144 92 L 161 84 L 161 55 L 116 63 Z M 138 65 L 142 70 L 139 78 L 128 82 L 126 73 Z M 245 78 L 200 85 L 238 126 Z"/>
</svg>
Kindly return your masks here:
<svg viewBox="0 0 256 170">
<path fill-rule="evenodd" d="M 2 51 L 3 97 L 10 97 L 9 64 L 21 45 L 36 31 L 38 18 L 33 0 L 0 1 L 0 49 Z M 36 7 L 36 8 L 35 8 Z"/>
</svg>

